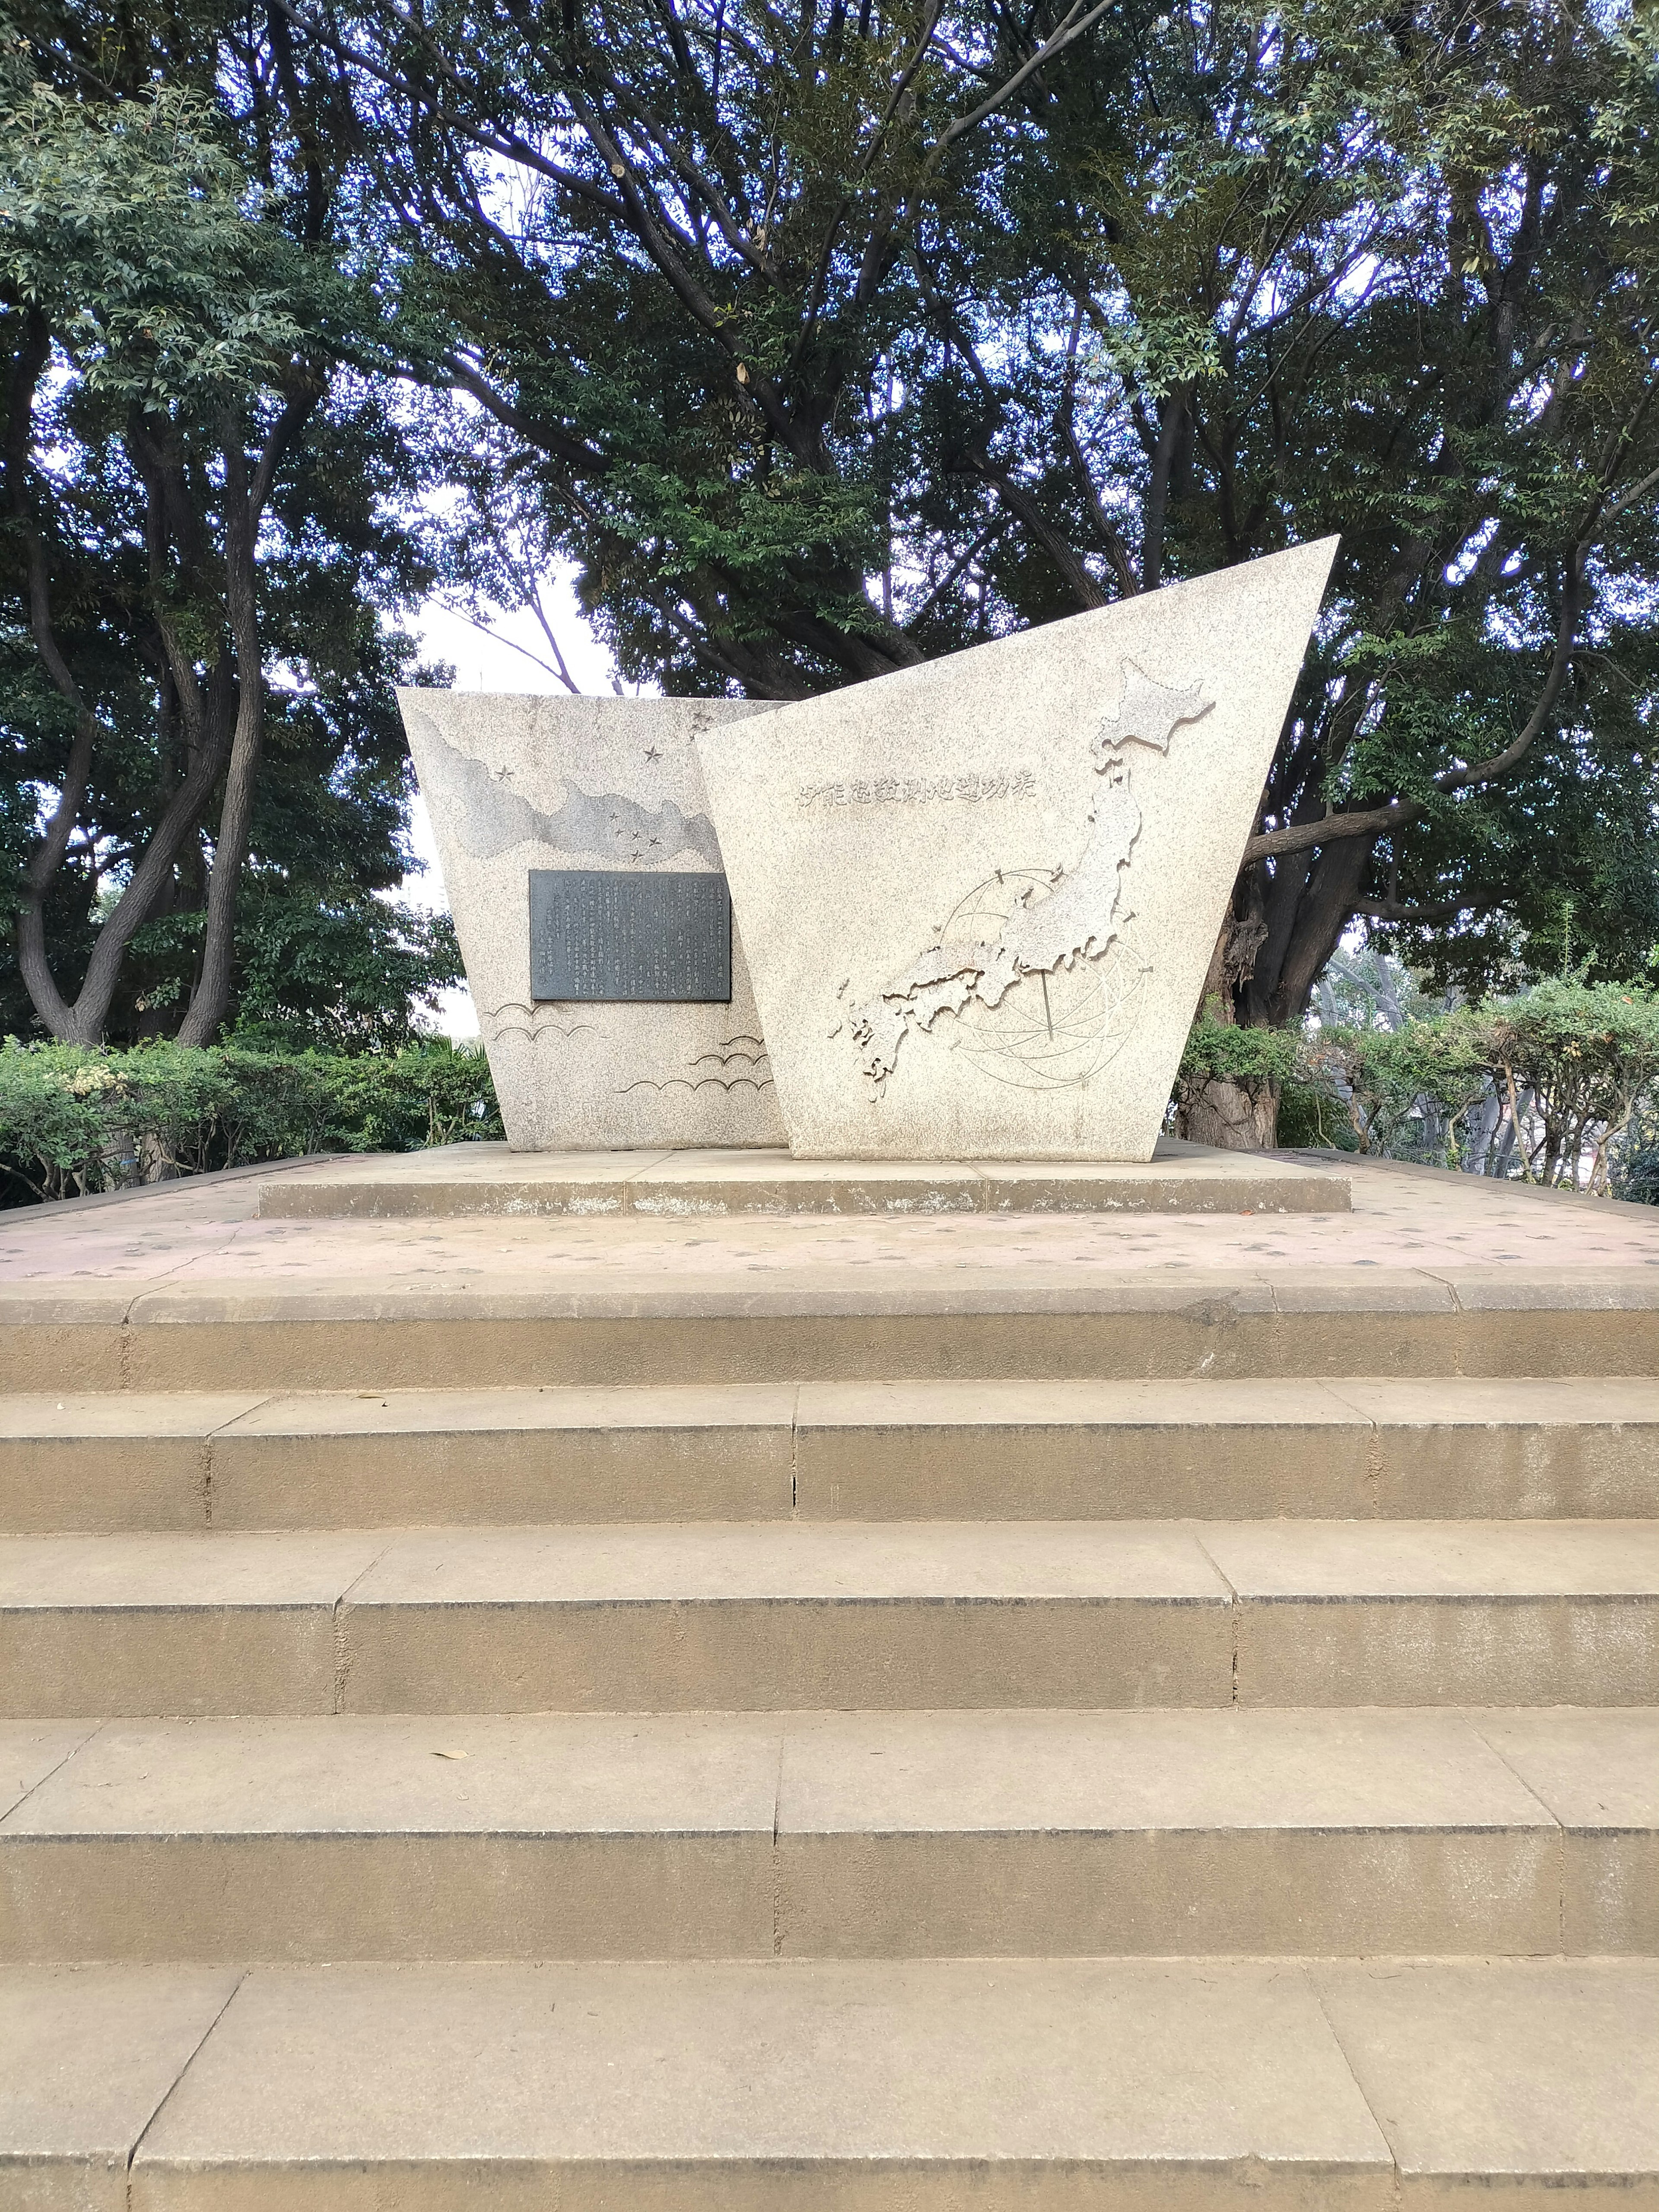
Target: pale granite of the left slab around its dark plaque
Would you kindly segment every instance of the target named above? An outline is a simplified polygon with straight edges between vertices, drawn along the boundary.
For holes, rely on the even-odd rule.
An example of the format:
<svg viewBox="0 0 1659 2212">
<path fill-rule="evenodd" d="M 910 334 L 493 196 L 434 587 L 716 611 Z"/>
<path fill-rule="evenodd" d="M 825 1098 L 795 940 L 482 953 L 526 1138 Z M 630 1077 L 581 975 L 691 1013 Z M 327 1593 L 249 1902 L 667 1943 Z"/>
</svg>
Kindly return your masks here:
<svg viewBox="0 0 1659 2212">
<path fill-rule="evenodd" d="M 531 980 L 531 872 L 719 874 L 692 734 L 763 706 L 451 690 L 398 706 L 507 1141 L 779 1144 L 737 929 L 730 1002 L 538 1000 Z"/>
</svg>

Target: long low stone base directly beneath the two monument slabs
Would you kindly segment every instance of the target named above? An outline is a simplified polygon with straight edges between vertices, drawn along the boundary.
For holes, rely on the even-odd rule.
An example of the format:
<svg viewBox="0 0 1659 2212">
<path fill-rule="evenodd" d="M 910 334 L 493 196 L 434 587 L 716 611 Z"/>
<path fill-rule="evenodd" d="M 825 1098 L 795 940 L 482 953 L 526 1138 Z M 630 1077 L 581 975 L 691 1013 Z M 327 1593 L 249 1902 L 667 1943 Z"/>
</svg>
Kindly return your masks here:
<svg viewBox="0 0 1659 2212">
<path fill-rule="evenodd" d="M 1345 1214 L 1349 1177 L 1159 1139 L 1150 1161 L 792 1159 L 783 1150 L 513 1152 L 449 1144 L 288 1170 L 265 1219 L 458 1214 Z"/>
</svg>

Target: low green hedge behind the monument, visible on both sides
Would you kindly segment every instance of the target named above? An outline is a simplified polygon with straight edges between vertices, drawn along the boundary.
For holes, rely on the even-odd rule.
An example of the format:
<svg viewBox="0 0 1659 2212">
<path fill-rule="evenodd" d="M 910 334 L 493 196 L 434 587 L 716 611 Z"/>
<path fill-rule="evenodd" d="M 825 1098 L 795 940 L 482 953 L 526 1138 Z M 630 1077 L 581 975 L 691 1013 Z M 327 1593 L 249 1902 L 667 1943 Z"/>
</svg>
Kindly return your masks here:
<svg viewBox="0 0 1659 2212">
<path fill-rule="evenodd" d="M 1405 1029 L 1232 1029 L 1203 1015 L 1177 1104 L 1210 1082 L 1279 1093 L 1281 1144 L 1433 1159 L 1659 1197 L 1659 995 L 1542 982 Z M 226 1044 L 0 1044 L 0 1203 L 299 1152 L 500 1137 L 478 1046 L 272 1053 Z"/>
</svg>

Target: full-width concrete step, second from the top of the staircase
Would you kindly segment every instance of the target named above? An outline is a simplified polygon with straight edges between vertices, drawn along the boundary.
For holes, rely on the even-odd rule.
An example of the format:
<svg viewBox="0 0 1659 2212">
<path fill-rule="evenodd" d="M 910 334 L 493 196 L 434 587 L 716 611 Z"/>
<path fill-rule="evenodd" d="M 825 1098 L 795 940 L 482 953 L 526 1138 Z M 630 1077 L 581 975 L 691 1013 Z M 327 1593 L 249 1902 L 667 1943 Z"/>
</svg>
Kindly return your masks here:
<svg viewBox="0 0 1659 2212">
<path fill-rule="evenodd" d="M 0 1396 L 0 1528 L 1659 1515 L 1659 1380 Z"/>
</svg>

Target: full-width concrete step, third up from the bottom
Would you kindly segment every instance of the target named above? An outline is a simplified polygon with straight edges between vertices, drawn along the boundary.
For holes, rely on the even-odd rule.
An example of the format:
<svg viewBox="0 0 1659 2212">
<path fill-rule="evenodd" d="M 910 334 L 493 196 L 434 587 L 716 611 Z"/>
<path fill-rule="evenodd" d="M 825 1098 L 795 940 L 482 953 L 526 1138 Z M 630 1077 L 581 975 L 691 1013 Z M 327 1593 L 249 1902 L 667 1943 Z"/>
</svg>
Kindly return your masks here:
<svg viewBox="0 0 1659 2212">
<path fill-rule="evenodd" d="M 0 1712 L 1652 1705 L 1659 1522 L 0 1537 Z"/>
</svg>

